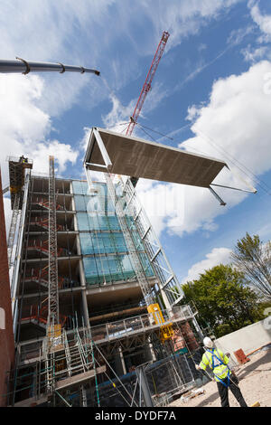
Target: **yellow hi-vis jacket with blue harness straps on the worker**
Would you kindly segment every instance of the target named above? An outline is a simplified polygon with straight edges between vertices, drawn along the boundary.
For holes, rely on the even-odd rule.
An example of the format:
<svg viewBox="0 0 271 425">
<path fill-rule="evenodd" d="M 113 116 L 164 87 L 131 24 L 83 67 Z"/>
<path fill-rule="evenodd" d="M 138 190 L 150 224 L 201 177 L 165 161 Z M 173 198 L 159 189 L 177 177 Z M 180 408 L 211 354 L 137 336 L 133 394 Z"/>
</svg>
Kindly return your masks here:
<svg viewBox="0 0 271 425">
<path fill-rule="evenodd" d="M 227 364 L 229 364 L 229 358 L 221 350 L 211 348 L 202 355 L 200 366 L 204 371 L 207 366 L 210 366 L 210 369 L 215 375 L 215 380 L 220 382 L 220 380 L 227 378 L 227 376 L 229 377 L 230 371 Z"/>
</svg>

